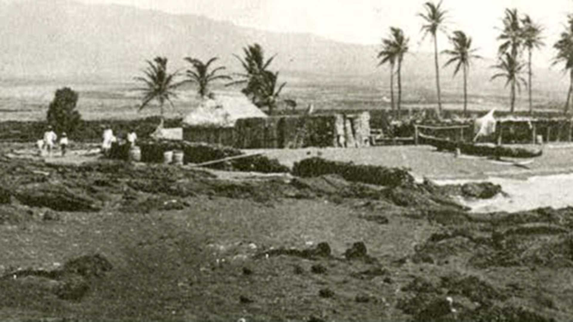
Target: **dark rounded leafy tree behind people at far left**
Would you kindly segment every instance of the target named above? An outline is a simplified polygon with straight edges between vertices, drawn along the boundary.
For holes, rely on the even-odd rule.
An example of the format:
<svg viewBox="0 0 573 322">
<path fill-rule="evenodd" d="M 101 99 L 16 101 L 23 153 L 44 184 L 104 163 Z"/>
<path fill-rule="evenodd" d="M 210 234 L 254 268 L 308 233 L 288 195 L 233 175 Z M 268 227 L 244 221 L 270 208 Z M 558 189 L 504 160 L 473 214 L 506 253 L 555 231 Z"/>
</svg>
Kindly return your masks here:
<svg viewBox="0 0 573 322">
<path fill-rule="evenodd" d="M 72 91 L 68 87 L 56 91 L 56 95 L 48 107 L 46 119 L 57 133 L 73 133 L 74 129 L 79 125 L 81 115 L 76 110 L 78 97 L 77 92 Z"/>
</svg>

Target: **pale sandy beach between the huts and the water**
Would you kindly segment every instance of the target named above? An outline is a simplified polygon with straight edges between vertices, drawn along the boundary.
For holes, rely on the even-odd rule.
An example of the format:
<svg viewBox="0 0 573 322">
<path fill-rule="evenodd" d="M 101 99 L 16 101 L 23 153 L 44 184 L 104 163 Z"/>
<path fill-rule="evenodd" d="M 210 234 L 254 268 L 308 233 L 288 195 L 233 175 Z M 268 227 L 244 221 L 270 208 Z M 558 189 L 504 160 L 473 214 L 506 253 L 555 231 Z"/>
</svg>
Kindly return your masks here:
<svg viewBox="0 0 573 322">
<path fill-rule="evenodd" d="M 543 156 L 533 159 L 528 168 L 511 163 L 500 164 L 486 158 L 461 156 L 455 158 L 448 152 L 438 152 L 430 146 L 383 146 L 366 148 L 304 148 L 298 150 L 246 150 L 247 153 L 262 152 L 277 158 L 282 164 L 292 167 L 295 162 L 311 156 L 356 164 L 371 164 L 387 167 L 411 168 L 417 179 L 486 179 L 490 176 L 513 176 L 527 178 L 573 171 L 573 146 L 571 144 L 548 144 Z M 521 160 L 523 161 L 523 160 Z"/>
</svg>

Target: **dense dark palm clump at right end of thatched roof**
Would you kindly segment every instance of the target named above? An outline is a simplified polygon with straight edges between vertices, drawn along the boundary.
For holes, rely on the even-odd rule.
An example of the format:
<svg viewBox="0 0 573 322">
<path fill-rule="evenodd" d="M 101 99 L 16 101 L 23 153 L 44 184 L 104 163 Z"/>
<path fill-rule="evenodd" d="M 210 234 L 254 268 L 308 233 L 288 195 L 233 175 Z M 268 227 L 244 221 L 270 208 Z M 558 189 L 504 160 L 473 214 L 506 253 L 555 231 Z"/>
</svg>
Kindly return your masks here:
<svg viewBox="0 0 573 322">
<path fill-rule="evenodd" d="M 278 85 L 278 72 L 268 70 L 274 56 L 265 60 L 264 51 L 259 44 L 249 45 L 243 48 L 243 52 L 244 58 L 237 55 L 235 57 L 241 62 L 245 73 L 238 74 L 242 80 L 234 81 L 229 85 L 246 84 L 241 92 L 248 96 L 257 107 L 266 107 L 269 109 L 269 114 L 273 114 L 277 107 L 278 96 L 286 85 L 286 83 Z"/>
</svg>

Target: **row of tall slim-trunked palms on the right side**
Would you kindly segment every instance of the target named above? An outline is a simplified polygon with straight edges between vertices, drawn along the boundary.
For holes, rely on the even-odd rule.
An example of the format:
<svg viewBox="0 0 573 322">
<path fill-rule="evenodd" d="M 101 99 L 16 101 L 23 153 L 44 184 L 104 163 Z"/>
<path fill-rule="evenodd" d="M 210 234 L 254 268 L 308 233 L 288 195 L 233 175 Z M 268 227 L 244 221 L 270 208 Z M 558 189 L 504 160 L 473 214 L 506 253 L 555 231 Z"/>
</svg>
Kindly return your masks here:
<svg viewBox="0 0 573 322">
<path fill-rule="evenodd" d="M 431 36 L 434 43 L 434 63 L 435 63 L 435 82 L 437 90 L 438 116 L 442 111 L 442 100 L 439 83 L 439 59 L 438 59 L 438 33 L 446 33 L 445 23 L 447 20 L 448 11 L 443 9 L 442 2 L 437 4 L 434 2 L 426 2 L 424 5 L 423 13 L 418 16 L 423 19 L 423 37 Z M 500 36 L 497 38 L 501 41 L 499 46 L 498 63 L 493 67 L 498 69 L 499 72 L 494 74 L 493 79 L 503 77 L 506 80 L 505 85 L 511 85 L 510 102 L 511 112 L 515 110 L 516 92 L 520 91 L 521 84 L 525 84 L 529 89 L 529 111 L 533 109 L 532 103 L 532 70 L 531 59 L 533 50 L 541 48 L 543 41 L 541 33 L 543 28 L 532 21 L 529 15 L 520 15 L 517 9 L 506 9 L 505 17 L 503 18 L 503 28 L 501 29 Z M 454 76 L 462 70 L 464 74 L 464 112 L 468 107 L 468 73 L 471 62 L 476 58 L 481 58 L 476 54 L 476 49 L 472 48 L 472 38 L 467 36 L 461 30 L 456 30 L 449 36 L 451 49 L 444 50 L 442 53 L 449 56 L 448 62 L 445 66 L 455 64 Z M 400 67 L 403 57 L 408 51 L 409 38 L 404 36 L 401 29 L 391 27 L 390 36 L 382 40 L 382 50 L 378 53 L 380 64 L 390 65 L 390 92 L 392 96 L 391 105 L 393 111 L 399 113 L 401 108 L 401 75 Z M 566 62 L 566 69 L 571 70 L 571 89 L 567 98 L 567 106 L 573 92 L 573 16 L 570 16 L 568 21 L 567 31 L 562 34 L 561 40 L 554 46 L 558 49 L 558 56 L 555 58 L 555 63 Z M 527 52 L 527 69 L 528 81 L 522 77 L 525 71 L 525 62 L 523 61 L 524 52 Z M 398 62 L 398 63 L 397 63 Z M 570 65 L 568 65 L 570 64 Z M 398 104 L 397 109 L 394 105 L 394 70 L 398 65 L 396 73 L 398 74 Z"/>
</svg>

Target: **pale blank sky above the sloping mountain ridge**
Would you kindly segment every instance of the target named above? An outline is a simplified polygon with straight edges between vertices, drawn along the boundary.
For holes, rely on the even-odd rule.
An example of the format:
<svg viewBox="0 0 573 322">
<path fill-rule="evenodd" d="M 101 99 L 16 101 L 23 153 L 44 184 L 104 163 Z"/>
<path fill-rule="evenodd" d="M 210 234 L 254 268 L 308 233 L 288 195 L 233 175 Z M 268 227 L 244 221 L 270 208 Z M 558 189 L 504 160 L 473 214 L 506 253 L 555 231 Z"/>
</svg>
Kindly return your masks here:
<svg viewBox="0 0 573 322">
<path fill-rule="evenodd" d="M 421 18 L 425 0 L 81 0 L 87 3 L 120 3 L 170 13 L 202 14 L 241 26 L 279 32 L 308 32 L 333 40 L 378 44 L 390 26 L 405 30 L 414 50 L 431 50 L 421 43 Z M 504 9 L 516 7 L 545 27 L 547 46 L 537 55 L 537 65 L 548 65 L 554 44 L 563 29 L 573 0 L 445 0 L 448 29 L 464 30 L 474 38 L 482 56 L 496 54 L 496 27 Z M 447 38 L 442 36 L 442 48 Z"/>
</svg>

